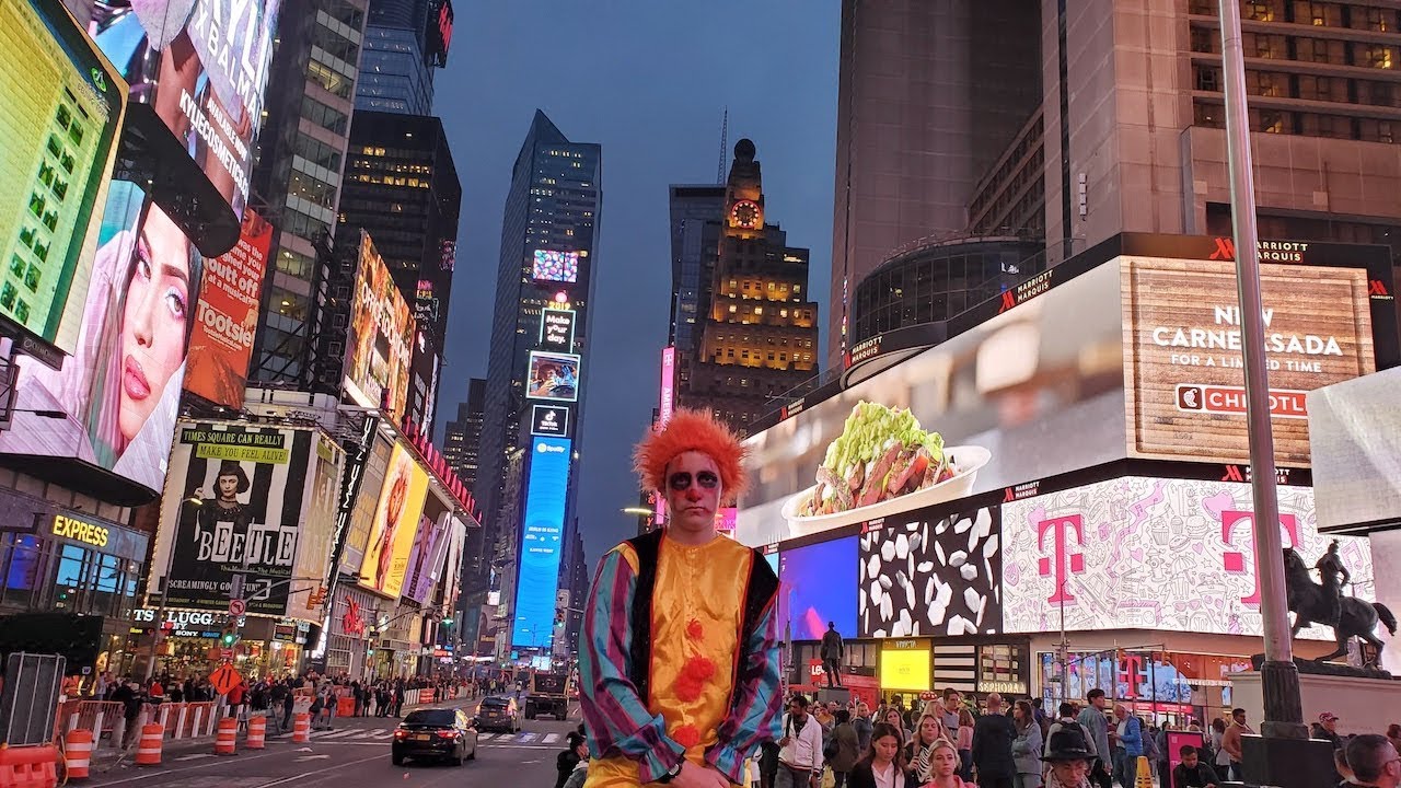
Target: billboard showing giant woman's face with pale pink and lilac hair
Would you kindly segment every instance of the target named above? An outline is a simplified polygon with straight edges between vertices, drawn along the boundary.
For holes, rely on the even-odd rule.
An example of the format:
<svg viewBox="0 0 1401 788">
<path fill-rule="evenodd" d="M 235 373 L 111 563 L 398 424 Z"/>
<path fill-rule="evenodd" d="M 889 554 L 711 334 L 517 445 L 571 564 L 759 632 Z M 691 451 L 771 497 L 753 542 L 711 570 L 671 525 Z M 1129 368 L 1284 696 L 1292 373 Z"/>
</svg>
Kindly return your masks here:
<svg viewBox="0 0 1401 788">
<path fill-rule="evenodd" d="M 146 495 L 163 489 L 203 268 L 160 206 L 113 181 L 78 342 L 62 370 L 20 359 L 15 426 L 0 433 L 0 453 L 76 458 Z M 120 499 L 133 498 L 129 487 Z"/>
</svg>

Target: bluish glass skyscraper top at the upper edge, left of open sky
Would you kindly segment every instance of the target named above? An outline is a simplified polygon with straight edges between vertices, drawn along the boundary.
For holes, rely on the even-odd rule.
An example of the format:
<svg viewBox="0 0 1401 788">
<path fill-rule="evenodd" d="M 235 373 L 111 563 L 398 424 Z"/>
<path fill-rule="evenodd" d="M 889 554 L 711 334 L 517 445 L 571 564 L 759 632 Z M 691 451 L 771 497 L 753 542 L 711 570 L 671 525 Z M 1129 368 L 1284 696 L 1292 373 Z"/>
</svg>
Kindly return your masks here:
<svg viewBox="0 0 1401 788">
<path fill-rule="evenodd" d="M 433 70 L 451 39 L 451 0 L 370 0 L 356 109 L 432 114 Z"/>
</svg>

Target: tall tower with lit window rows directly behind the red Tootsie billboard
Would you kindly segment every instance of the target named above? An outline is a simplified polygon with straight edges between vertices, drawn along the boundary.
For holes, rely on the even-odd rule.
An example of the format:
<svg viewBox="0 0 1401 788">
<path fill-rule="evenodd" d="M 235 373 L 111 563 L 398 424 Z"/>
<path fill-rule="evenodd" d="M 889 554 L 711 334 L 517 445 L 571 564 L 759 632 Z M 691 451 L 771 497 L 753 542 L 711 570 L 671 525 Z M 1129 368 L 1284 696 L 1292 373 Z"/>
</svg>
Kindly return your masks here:
<svg viewBox="0 0 1401 788">
<path fill-rule="evenodd" d="M 259 140 L 252 192 L 273 219 L 273 265 L 263 285 L 262 318 L 249 381 L 311 387 L 321 358 L 314 341 L 321 308 L 333 293 L 331 266 L 340 177 L 354 109 L 367 0 L 286 0 L 268 80 L 268 122 Z M 357 237 L 349 243 L 357 243 Z M 317 381 L 339 394 L 339 374 Z"/>
</svg>

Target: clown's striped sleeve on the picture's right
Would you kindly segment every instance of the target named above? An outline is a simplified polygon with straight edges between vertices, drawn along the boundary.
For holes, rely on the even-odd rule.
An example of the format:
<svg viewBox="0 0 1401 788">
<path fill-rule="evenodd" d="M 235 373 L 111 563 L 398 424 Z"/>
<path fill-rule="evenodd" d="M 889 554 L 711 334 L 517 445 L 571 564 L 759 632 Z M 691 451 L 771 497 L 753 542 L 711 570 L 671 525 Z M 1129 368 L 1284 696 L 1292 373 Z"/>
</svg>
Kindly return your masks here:
<svg viewBox="0 0 1401 788">
<path fill-rule="evenodd" d="M 754 628 L 740 662 L 734 708 L 716 731 L 719 743 L 705 760 L 730 778 L 744 784 L 744 761 L 764 742 L 782 735 L 779 712 L 783 711 L 779 686 L 779 625 L 773 602 Z"/>
</svg>

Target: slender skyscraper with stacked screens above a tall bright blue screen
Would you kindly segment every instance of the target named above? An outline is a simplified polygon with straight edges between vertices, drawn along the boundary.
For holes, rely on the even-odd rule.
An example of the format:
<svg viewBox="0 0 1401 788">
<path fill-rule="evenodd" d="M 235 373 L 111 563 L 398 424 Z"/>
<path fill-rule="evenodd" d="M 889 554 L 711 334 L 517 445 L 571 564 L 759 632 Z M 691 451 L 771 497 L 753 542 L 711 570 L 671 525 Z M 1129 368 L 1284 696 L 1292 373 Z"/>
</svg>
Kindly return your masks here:
<svg viewBox="0 0 1401 788">
<path fill-rule="evenodd" d="M 502 543 L 499 572 L 525 572 L 520 564 L 531 562 L 528 590 L 537 596 L 528 610 L 520 610 L 527 587 L 502 600 L 511 606 L 511 645 L 528 649 L 548 651 L 552 642 L 545 630 L 553 623 L 555 583 L 546 578 L 559 572 L 563 527 L 573 517 L 601 167 L 598 144 L 570 142 L 537 111 L 511 170 L 502 220 L 476 491 L 489 523 L 485 536 Z M 506 501 L 507 461 L 517 453 L 521 501 Z M 520 516 L 503 516 L 517 505 Z M 479 572 L 478 586 L 485 580 Z M 539 595 L 545 585 L 548 604 Z M 523 628 L 530 630 L 524 638 Z"/>
</svg>

